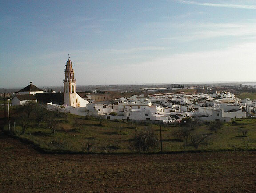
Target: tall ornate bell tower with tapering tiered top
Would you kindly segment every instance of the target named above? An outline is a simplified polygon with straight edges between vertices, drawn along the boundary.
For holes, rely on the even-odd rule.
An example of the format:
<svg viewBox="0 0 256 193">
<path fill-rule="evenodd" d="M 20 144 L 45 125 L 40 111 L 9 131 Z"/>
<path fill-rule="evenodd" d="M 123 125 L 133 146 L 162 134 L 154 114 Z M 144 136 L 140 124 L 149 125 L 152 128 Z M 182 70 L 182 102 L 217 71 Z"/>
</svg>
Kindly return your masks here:
<svg viewBox="0 0 256 193">
<path fill-rule="evenodd" d="M 74 78 L 74 69 L 68 54 L 68 61 L 66 63 L 64 83 L 64 103 L 67 106 L 76 107 L 76 79 Z"/>
</svg>

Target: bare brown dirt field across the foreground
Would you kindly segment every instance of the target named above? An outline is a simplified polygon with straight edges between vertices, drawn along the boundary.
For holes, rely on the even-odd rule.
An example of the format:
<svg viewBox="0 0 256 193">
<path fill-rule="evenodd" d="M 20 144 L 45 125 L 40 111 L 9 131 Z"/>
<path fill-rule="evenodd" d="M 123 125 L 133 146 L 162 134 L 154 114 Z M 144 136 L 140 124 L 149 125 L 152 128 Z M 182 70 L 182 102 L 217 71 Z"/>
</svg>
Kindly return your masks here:
<svg viewBox="0 0 256 193">
<path fill-rule="evenodd" d="M 0 192 L 255 192 L 256 152 L 40 154 L 0 134 Z"/>
</svg>

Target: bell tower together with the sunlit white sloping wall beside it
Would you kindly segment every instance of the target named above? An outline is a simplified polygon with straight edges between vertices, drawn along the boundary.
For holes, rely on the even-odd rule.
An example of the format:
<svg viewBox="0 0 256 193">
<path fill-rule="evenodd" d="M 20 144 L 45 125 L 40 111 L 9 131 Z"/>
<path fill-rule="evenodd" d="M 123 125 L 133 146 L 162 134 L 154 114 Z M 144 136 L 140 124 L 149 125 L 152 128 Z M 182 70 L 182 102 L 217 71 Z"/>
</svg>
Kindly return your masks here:
<svg viewBox="0 0 256 193">
<path fill-rule="evenodd" d="M 72 62 L 68 58 L 65 69 L 64 83 L 64 107 L 85 107 L 89 101 L 84 100 L 76 93 L 76 79 L 74 77 L 74 69 Z"/>
</svg>

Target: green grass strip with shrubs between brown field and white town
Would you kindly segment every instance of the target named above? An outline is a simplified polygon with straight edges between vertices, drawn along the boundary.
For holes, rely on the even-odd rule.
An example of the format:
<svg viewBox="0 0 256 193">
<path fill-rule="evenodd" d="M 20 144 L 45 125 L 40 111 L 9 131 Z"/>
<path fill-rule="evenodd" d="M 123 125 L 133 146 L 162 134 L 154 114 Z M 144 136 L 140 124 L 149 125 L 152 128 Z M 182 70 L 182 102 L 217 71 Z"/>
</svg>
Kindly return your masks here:
<svg viewBox="0 0 256 193">
<path fill-rule="evenodd" d="M 77 152 L 77 153 L 130 153 L 130 140 L 137 130 L 151 127 L 160 139 L 158 125 L 144 126 L 125 122 L 105 120 L 103 126 L 99 121 L 86 120 L 83 116 L 69 115 L 68 121 L 59 119 L 56 133 L 46 128 L 46 124 L 37 127 L 35 122 L 28 128 L 25 135 L 21 135 L 21 127 L 16 126 L 14 133 L 17 137 L 32 141 L 44 151 Z M 223 150 L 252 150 L 256 149 L 256 119 L 234 119 L 225 123 L 217 134 L 212 134 L 207 125 L 196 127 L 193 134 L 208 135 L 207 143 L 195 149 L 191 145 L 184 146 L 184 142 L 176 139 L 173 133 L 179 127 L 168 126 L 162 130 L 163 151 L 223 151 Z M 242 137 L 241 129 L 248 130 L 248 137 Z M 4 127 L 8 130 L 8 126 Z M 92 144 L 90 151 L 86 150 L 87 143 Z M 156 150 L 158 152 L 160 148 Z"/>
</svg>

